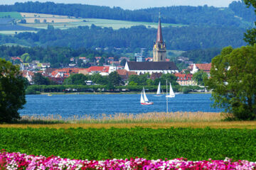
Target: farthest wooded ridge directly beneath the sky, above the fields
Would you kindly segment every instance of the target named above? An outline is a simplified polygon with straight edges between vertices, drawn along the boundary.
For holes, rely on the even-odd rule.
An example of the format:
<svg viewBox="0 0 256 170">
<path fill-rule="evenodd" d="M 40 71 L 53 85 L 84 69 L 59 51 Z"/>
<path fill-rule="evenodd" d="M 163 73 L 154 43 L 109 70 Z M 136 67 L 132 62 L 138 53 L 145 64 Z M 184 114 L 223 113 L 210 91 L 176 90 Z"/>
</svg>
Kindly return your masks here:
<svg viewBox="0 0 256 170">
<path fill-rule="evenodd" d="M 1 5 L 0 11 L 49 13 L 74 16 L 75 18 L 105 18 L 143 22 L 157 22 L 159 11 L 161 11 L 161 21 L 163 23 L 241 28 L 252 26 L 255 20 L 253 9 L 246 8 L 242 2 L 233 2 L 228 8 L 215 8 L 213 6 L 169 6 L 132 11 L 119 7 L 110 8 L 107 6 L 28 1 L 14 5 Z"/>
</svg>

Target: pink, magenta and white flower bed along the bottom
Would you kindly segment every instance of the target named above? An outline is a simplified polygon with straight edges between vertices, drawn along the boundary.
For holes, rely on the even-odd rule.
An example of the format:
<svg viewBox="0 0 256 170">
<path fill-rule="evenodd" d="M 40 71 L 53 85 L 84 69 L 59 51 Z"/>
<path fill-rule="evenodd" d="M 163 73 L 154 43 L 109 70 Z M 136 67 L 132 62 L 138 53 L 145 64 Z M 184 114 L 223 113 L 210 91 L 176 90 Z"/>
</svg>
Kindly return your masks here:
<svg viewBox="0 0 256 170">
<path fill-rule="evenodd" d="M 188 161 L 187 159 L 146 160 L 136 159 L 107 159 L 89 161 L 78 159 L 63 159 L 60 157 L 43 157 L 21 153 L 0 152 L 0 169 L 256 169 L 256 162 L 238 161 L 231 159 Z"/>
</svg>

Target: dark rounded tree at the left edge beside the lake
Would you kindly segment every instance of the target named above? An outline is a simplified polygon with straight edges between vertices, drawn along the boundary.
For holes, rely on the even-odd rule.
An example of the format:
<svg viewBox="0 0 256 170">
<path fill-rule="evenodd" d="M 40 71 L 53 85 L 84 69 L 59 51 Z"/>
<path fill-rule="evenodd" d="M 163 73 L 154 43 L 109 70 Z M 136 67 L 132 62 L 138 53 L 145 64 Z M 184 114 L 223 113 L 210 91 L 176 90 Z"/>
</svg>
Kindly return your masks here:
<svg viewBox="0 0 256 170">
<path fill-rule="evenodd" d="M 18 110 L 26 103 L 25 83 L 17 65 L 0 58 L 0 123 L 20 118 Z"/>
</svg>

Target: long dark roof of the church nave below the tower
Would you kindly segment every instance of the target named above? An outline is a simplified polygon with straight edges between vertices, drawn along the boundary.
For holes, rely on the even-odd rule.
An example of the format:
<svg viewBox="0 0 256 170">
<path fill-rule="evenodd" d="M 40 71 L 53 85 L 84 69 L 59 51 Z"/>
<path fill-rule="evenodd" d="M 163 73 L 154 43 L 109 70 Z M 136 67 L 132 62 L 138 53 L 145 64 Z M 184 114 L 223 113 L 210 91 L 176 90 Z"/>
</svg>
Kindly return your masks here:
<svg viewBox="0 0 256 170">
<path fill-rule="evenodd" d="M 129 70 L 178 70 L 174 62 L 127 62 Z"/>
</svg>

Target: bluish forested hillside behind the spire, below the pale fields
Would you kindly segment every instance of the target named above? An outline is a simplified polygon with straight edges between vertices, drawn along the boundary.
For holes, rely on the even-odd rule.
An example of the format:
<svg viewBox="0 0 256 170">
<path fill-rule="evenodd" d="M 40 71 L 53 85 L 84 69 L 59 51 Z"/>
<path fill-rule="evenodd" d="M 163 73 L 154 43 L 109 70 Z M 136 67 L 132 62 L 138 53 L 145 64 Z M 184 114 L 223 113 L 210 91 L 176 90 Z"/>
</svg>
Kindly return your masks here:
<svg viewBox="0 0 256 170">
<path fill-rule="evenodd" d="M 197 26 L 163 28 L 163 36 L 168 50 L 194 50 L 210 47 L 245 45 L 242 28 L 200 28 Z M 31 46 L 41 45 L 72 48 L 119 47 L 134 50 L 137 47 L 151 49 L 156 38 L 155 28 L 134 26 L 132 28 L 100 28 L 85 26 L 67 30 L 39 30 L 38 33 L 19 33 L 15 40 L 23 40 Z M 7 38 L 9 40 L 11 38 Z"/>
</svg>

